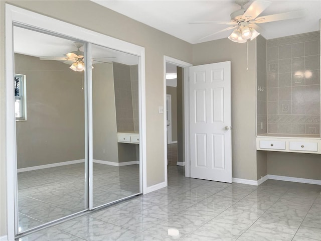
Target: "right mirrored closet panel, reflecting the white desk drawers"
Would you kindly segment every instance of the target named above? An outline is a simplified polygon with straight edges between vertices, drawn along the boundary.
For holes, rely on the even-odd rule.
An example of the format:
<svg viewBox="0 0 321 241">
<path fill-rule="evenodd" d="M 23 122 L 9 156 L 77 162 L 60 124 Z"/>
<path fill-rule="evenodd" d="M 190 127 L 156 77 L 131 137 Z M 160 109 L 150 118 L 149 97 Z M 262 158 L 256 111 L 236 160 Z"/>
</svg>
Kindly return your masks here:
<svg viewBox="0 0 321 241">
<path fill-rule="evenodd" d="M 140 193 L 138 57 L 92 45 L 93 206 Z"/>
</svg>

